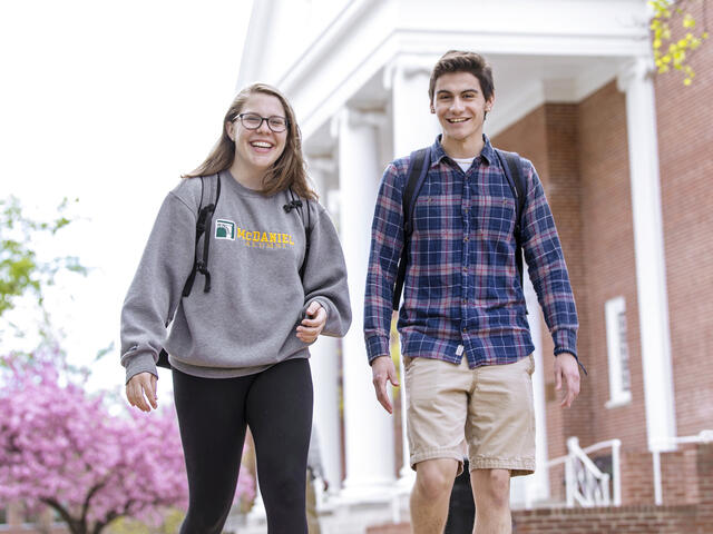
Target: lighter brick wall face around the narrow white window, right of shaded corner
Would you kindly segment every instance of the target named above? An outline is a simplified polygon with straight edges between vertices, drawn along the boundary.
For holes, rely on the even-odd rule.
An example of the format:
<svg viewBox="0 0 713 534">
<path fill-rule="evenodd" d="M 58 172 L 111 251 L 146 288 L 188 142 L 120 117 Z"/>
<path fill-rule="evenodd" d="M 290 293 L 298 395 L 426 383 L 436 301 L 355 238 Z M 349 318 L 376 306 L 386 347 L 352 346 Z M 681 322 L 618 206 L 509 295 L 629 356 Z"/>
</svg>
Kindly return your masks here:
<svg viewBox="0 0 713 534">
<path fill-rule="evenodd" d="M 619 438 L 624 449 L 646 444 L 646 415 L 641 359 L 632 192 L 628 171 L 625 96 L 611 82 L 579 103 L 579 169 L 584 255 L 588 288 L 589 369 L 596 417 L 594 442 Z M 632 402 L 606 408 L 609 400 L 605 303 L 626 303 Z M 586 446 L 589 443 L 582 441 Z"/>
</svg>

